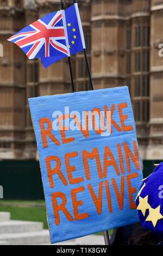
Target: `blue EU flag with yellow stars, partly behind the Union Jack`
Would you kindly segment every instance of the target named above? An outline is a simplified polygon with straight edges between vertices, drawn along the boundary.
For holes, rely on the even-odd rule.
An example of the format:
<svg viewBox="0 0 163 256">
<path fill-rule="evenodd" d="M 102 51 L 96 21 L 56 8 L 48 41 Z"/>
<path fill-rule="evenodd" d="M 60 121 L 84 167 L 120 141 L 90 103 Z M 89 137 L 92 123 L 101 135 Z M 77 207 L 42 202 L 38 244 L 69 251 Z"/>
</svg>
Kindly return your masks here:
<svg viewBox="0 0 163 256">
<path fill-rule="evenodd" d="M 85 48 L 85 41 L 77 3 L 65 10 L 65 26 L 70 56 L 83 51 Z M 45 57 L 41 58 L 41 62 L 45 68 L 48 68 L 48 66 L 65 57 L 66 56 Z"/>
</svg>

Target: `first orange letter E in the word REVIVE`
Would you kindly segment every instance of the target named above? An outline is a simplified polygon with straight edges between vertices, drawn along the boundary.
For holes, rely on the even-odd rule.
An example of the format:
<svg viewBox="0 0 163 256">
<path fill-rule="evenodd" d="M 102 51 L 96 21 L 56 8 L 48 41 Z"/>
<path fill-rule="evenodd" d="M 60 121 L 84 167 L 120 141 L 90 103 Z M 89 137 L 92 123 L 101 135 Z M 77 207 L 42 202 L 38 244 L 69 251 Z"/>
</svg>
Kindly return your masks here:
<svg viewBox="0 0 163 256">
<path fill-rule="evenodd" d="M 77 201 L 77 193 L 83 192 L 84 187 L 74 188 L 71 191 L 72 204 L 73 204 L 73 213 L 76 221 L 83 220 L 84 218 L 89 217 L 89 214 L 85 212 L 84 214 L 79 214 L 78 207 L 83 205 L 83 201 Z"/>
</svg>

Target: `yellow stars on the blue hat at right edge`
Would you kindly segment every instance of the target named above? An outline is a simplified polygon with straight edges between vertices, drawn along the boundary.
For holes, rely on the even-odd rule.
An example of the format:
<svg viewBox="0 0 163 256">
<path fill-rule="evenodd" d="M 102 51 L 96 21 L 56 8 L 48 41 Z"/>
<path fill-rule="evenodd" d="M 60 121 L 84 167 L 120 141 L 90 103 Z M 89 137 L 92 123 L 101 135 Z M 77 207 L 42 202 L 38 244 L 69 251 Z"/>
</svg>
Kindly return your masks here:
<svg viewBox="0 0 163 256">
<path fill-rule="evenodd" d="M 141 190 L 137 194 L 137 198 L 139 198 L 139 205 L 137 205 L 137 210 L 140 210 L 142 212 L 142 215 L 145 217 L 146 216 L 146 211 L 149 210 L 149 215 L 146 218 L 146 221 L 151 221 L 153 224 L 153 227 L 156 227 L 156 224 L 158 223 L 159 220 L 163 220 L 163 216 L 160 213 L 161 206 L 159 205 L 157 208 L 152 208 L 151 205 L 148 203 L 148 196 L 145 198 L 142 198 L 140 196 L 143 188 L 145 188 L 146 183 L 143 184 Z"/>
</svg>

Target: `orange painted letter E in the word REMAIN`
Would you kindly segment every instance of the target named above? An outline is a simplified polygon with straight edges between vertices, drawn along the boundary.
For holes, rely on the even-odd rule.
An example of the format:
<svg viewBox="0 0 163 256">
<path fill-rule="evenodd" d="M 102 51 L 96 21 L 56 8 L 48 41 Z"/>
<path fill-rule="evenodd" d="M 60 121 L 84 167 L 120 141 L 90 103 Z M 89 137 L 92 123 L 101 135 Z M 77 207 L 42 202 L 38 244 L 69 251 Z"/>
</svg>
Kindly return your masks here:
<svg viewBox="0 0 163 256">
<path fill-rule="evenodd" d="M 66 169 L 67 169 L 67 174 L 68 174 L 68 180 L 70 181 L 70 184 L 77 184 L 79 182 L 83 182 L 84 179 L 81 178 L 72 178 L 72 172 L 76 170 L 75 166 L 70 166 L 70 158 L 77 157 L 78 152 L 72 152 L 72 153 L 67 153 L 65 154 L 65 163 L 66 163 Z"/>
</svg>

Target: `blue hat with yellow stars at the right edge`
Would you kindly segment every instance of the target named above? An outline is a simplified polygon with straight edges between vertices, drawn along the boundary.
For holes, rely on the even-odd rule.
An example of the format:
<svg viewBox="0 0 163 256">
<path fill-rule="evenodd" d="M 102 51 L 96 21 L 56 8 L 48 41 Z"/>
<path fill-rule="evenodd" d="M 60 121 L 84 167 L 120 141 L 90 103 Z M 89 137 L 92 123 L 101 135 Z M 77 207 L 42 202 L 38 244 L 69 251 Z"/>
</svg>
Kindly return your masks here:
<svg viewBox="0 0 163 256">
<path fill-rule="evenodd" d="M 163 163 L 143 180 L 136 205 L 143 228 L 163 239 Z"/>
</svg>

